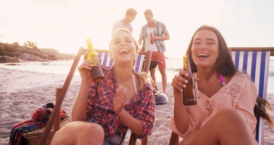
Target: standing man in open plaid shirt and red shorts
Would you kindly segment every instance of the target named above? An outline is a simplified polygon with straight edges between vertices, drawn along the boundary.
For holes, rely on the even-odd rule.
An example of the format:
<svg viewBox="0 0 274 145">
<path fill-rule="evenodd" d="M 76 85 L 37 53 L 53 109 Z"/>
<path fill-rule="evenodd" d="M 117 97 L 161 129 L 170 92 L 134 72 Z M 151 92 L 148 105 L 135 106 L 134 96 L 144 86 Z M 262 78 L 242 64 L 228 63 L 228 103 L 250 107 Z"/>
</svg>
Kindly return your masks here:
<svg viewBox="0 0 274 145">
<path fill-rule="evenodd" d="M 145 10 L 144 15 L 147 23 L 141 29 L 138 43 L 141 46 L 143 41 L 141 51 L 152 51 L 151 60 L 162 62 L 158 64 L 158 68 L 162 75 L 163 93 L 165 94 L 167 89 L 167 75 L 165 73 L 164 52 L 166 49 L 164 40 L 169 40 L 169 32 L 167 32 L 167 27 L 164 23 L 153 19 L 153 13 L 150 9 Z M 152 73 L 155 76 L 155 69 L 152 69 Z"/>
</svg>

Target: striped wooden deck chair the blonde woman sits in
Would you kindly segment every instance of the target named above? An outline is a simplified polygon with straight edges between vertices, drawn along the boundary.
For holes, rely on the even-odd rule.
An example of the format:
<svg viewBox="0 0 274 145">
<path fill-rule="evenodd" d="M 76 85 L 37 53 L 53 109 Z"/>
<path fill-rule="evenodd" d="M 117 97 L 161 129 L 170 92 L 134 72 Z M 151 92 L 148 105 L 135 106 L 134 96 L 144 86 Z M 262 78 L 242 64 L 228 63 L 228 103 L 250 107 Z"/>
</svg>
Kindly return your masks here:
<svg viewBox="0 0 274 145">
<path fill-rule="evenodd" d="M 85 52 L 87 52 L 87 49 L 84 48 L 80 48 L 74 61 L 72 64 L 72 67 L 70 68 L 70 71 L 67 75 L 67 79 L 65 80 L 65 83 L 63 85 L 62 88 L 57 88 L 56 90 L 56 103 L 55 103 L 55 107 L 53 108 L 52 114 L 50 115 L 50 118 L 48 119 L 48 123 L 45 127 L 45 130 L 42 134 L 42 137 L 39 141 L 39 145 L 45 145 L 46 140 L 50 134 L 50 131 L 52 130 L 52 126 L 54 123 L 54 132 L 58 131 L 60 129 L 60 117 L 56 117 L 56 116 L 60 116 L 60 111 L 61 111 L 61 105 L 62 102 L 65 98 L 65 94 L 68 90 L 68 87 L 70 85 L 70 82 L 72 80 L 73 74 L 77 68 L 77 65 L 79 63 L 79 60 L 81 58 L 81 55 L 84 55 Z M 104 66 L 109 66 L 112 65 L 113 60 L 110 59 L 109 56 L 109 51 L 108 50 L 103 50 L 103 49 L 96 49 L 96 52 L 98 52 L 99 57 L 101 58 L 101 64 Z M 143 65 L 143 60 L 145 59 L 146 61 L 144 62 L 144 69 L 143 71 L 148 73 L 149 72 L 149 66 L 150 66 L 150 59 L 151 59 L 151 51 L 147 51 L 147 52 L 138 52 L 138 57 L 137 57 L 137 61 L 136 61 L 136 66 L 134 67 L 136 72 L 141 72 L 142 71 L 142 65 Z M 63 122 L 62 122 L 63 123 Z M 62 126 L 64 126 L 65 124 L 62 124 Z M 125 135 L 124 135 L 125 137 Z M 121 144 L 124 144 L 124 139 L 123 141 L 121 141 Z M 136 138 L 131 134 L 130 136 L 130 141 L 129 141 L 130 145 L 135 145 L 136 144 Z M 142 145 L 146 145 L 147 144 L 147 138 L 144 138 L 141 140 L 141 144 Z"/>
</svg>

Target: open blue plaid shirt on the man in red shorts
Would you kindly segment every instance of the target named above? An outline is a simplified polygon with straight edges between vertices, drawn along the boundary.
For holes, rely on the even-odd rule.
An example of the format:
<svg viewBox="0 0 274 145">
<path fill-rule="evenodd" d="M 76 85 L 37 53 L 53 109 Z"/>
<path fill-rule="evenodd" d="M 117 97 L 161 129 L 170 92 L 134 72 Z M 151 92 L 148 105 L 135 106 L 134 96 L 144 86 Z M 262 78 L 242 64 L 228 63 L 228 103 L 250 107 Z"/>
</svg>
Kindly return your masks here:
<svg viewBox="0 0 274 145">
<path fill-rule="evenodd" d="M 155 27 L 156 27 L 156 29 L 154 29 L 155 36 L 163 36 L 163 33 L 167 32 L 167 27 L 165 26 L 164 23 L 155 20 L 154 24 L 155 24 Z M 142 27 L 142 29 L 141 29 L 140 36 L 144 37 L 144 39 L 143 39 L 143 46 L 141 48 L 141 51 L 147 51 L 146 50 L 147 49 L 147 45 L 146 45 L 145 32 L 146 32 L 148 26 L 149 26 L 148 24 L 145 24 Z M 156 40 L 156 46 L 158 48 L 159 53 L 166 52 L 164 41 L 162 41 L 162 40 Z"/>
</svg>

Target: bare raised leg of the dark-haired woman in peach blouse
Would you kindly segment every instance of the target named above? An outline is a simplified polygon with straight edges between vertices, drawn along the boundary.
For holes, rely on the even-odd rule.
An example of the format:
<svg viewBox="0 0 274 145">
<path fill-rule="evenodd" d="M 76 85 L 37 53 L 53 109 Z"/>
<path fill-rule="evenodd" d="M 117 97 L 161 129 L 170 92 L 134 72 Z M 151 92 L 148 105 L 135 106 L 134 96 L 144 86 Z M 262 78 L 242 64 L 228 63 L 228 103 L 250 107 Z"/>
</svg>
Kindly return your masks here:
<svg viewBox="0 0 274 145">
<path fill-rule="evenodd" d="M 224 109 L 197 131 L 190 144 L 258 144 L 245 119 L 235 109 Z"/>
</svg>

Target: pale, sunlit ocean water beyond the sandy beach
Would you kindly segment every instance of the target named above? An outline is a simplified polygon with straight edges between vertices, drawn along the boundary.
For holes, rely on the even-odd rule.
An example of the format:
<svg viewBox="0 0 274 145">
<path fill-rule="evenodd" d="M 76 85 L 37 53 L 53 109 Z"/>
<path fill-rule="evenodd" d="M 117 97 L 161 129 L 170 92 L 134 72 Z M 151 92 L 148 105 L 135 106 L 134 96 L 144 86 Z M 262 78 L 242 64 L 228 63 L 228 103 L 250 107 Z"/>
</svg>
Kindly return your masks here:
<svg viewBox="0 0 274 145">
<path fill-rule="evenodd" d="M 82 61 L 83 59 L 81 58 L 78 65 L 80 65 Z M 25 71 L 67 75 L 72 63 L 73 63 L 73 60 L 53 61 L 53 62 L 24 62 L 24 63 L 17 63 L 17 64 L 20 64 L 17 66 L 10 66 L 10 65 L 5 65 L 7 63 L 0 63 L 0 67 L 10 68 L 10 69 L 19 69 L 19 70 L 25 70 Z M 167 73 L 168 83 L 172 82 L 173 77 L 176 74 L 178 74 L 179 70 L 182 67 L 183 67 L 182 58 L 166 59 L 166 73 Z M 76 76 L 80 75 L 77 69 L 74 75 Z M 161 74 L 158 68 L 156 68 L 155 78 L 157 82 L 162 81 Z M 274 93 L 274 58 L 272 57 L 270 57 L 270 63 L 269 63 L 269 77 L 268 77 L 267 92 Z"/>
</svg>

